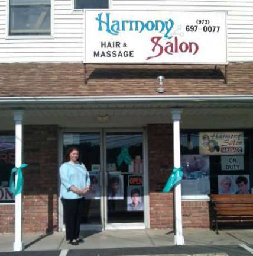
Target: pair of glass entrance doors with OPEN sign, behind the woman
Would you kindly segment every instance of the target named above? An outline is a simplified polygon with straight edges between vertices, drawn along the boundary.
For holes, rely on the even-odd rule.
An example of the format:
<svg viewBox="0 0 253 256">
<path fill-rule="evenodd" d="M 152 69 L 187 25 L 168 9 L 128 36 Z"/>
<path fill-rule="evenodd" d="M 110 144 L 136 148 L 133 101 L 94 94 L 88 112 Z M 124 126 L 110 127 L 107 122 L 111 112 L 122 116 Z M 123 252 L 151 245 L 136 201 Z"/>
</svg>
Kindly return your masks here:
<svg viewBox="0 0 253 256">
<path fill-rule="evenodd" d="M 115 223 L 144 223 L 142 132 L 64 132 L 63 155 L 70 147 L 90 174 L 83 229 Z"/>
</svg>

